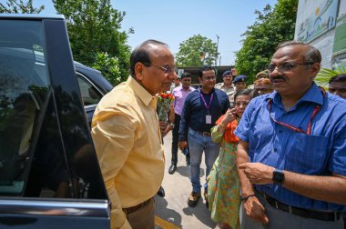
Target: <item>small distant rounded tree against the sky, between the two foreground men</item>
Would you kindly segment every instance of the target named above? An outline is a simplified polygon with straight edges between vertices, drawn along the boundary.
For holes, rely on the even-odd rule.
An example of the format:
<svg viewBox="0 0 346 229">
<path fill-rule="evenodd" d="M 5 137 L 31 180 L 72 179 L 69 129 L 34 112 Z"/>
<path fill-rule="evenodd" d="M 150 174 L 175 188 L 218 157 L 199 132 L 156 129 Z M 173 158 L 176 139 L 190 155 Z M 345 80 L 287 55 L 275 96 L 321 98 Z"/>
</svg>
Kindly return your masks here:
<svg viewBox="0 0 346 229">
<path fill-rule="evenodd" d="M 178 66 L 213 65 L 217 55 L 216 43 L 202 35 L 194 35 L 179 45 L 176 64 Z"/>
</svg>

